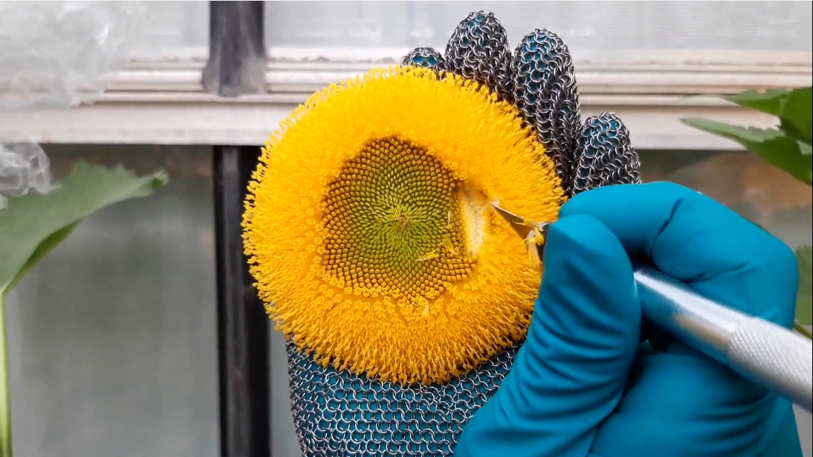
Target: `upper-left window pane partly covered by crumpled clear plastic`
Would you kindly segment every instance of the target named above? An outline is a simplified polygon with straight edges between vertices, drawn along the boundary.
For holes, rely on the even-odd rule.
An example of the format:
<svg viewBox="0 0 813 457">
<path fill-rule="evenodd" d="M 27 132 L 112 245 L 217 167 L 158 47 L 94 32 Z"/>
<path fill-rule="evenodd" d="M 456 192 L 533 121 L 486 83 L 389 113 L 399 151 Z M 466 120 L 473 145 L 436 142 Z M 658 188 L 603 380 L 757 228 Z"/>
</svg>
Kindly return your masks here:
<svg viewBox="0 0 813 457">
<path fill-rule="evenodd" d="M 199 68 L 208 11 L 208 2 L 2 2 L 0 110 L 93 102 L 127 64 Z"/>
</svg>

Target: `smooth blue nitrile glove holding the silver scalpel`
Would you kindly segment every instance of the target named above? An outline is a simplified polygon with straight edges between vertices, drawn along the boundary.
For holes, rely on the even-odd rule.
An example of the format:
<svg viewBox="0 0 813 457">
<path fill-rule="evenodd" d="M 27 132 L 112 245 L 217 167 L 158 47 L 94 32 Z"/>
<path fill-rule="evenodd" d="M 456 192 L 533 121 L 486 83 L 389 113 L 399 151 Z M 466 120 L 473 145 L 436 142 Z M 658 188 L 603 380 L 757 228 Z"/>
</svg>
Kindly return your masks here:
<svg viewBox="0 0 813 457">
<path fill-rule="evenodd" d="M 546 241 L 528 341 L 455 457 L 797 457 L 790 403 L 647 329 L 630 258 L 789 328 L 798 269 L 782 242 L 669 183 L 576 195 Z M 653 349 L 654 347 L 654 349 Z"/>
</svg>

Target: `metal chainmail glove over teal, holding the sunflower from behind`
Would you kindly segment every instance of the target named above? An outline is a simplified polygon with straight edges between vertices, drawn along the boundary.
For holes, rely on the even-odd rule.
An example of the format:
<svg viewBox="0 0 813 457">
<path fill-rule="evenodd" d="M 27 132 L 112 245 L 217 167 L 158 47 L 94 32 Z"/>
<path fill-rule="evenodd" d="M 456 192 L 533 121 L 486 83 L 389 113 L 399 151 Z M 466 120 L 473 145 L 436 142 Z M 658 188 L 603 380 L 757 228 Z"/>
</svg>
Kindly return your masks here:
<svg viewBox="0 0 813 457">
<path fill-rule="evenodd" d="M 496 17 L 473 12 L 440 54 L 417 48 L 402 65 L 454 72 L 515 104 L 555 160 L 568 196 L 601 185 L 639 183 L 638 157 L 617 116 L 580 121 L 570 52 L 537 29 L 511 54 Z M 463 426 L 498 390 L 519 345 L 446 385 L 402 387 L 322 368 L 288 343 L 294 424 L 302 453 L 316 456 L 448 456 Z"/>
</svg>

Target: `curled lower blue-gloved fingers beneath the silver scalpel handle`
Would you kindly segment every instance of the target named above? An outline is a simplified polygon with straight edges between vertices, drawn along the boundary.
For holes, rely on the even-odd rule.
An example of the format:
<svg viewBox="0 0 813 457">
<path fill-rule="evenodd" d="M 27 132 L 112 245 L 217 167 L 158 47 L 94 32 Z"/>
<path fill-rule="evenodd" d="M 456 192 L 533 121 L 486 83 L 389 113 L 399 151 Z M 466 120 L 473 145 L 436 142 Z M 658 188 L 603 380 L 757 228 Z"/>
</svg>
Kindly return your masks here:
<svg viewBox="0 0 813 457">
<path fill-rule="evenodd" d="M 747 384 L 673 343 L 641 358 L 641 373 L 596 433 L 591 455 L 801 457 L 790 403 Z"/>
</svg>

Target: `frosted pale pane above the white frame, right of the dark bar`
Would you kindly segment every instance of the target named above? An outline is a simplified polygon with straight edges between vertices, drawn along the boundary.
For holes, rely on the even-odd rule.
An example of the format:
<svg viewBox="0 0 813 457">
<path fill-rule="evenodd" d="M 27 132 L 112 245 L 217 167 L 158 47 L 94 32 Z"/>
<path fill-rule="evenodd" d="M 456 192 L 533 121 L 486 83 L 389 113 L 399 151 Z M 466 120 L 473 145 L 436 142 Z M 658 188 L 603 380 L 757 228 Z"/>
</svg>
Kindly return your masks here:
<svg viewBox="0 0 813 457">
<path fill-rule="evenodd" d="M 268 46 L 443 46 L 471 11 L 491 11 L 511 46 L 535 28 L 578 59 L 607 50 L 802 50 L 811 2 L 266 2 Z"/>
</svg>

